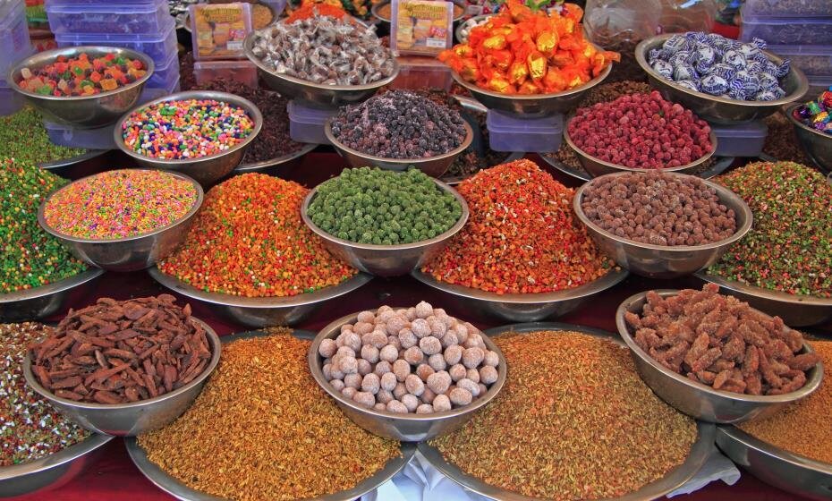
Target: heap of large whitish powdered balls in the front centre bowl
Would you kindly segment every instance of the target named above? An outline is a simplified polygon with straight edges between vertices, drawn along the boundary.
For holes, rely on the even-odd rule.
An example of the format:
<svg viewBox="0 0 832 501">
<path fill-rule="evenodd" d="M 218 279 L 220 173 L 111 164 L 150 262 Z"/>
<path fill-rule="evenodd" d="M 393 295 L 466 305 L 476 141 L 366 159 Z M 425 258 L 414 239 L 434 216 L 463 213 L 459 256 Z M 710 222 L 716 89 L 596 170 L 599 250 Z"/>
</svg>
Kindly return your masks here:
<svg viewBox="0 0 832 501">
<path fill-rule="evenodd" d="M 318 347 L 324 378 L 376 411 L 432 414 L 459 409 L 497 382 L 500 356 L 480 329 L 421 301 L 361 311 Z"/>
</svg>

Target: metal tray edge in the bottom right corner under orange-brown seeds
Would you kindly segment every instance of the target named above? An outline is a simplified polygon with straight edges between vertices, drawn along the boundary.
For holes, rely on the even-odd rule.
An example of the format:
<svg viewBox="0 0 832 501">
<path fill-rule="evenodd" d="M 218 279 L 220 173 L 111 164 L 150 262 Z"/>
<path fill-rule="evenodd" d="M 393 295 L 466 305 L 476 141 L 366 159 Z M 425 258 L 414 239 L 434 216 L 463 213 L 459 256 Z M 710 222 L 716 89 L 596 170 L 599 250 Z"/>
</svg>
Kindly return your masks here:
<svg viewBox="0 0 832 501">
<path fill-rule="evenodd" d="M 717 427 L 717 446 L 768 485 L 817 501 L 832 498 L 832 464 L 789 453 L 730 425 Z"/>
</svg>

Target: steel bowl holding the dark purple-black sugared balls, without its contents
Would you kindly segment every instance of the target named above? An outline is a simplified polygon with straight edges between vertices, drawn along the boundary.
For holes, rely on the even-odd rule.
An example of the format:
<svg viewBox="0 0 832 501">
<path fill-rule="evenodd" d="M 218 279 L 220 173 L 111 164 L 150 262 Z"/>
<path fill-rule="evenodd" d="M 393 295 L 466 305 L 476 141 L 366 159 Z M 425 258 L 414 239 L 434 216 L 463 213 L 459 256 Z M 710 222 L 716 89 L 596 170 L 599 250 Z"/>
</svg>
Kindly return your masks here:
<svg viewBox="0 0 832 501">
<path fill-rule="evenodd" d="M 456 157 L 459 157 L 459 155 L 471 145 L 471 141 L 474 139 L 474 132 L 473 129 L 471 129 L 471 125 L 467 122 L 465 122 L 464 125 L 465 139 L 461 145 L 451 151 L 448 151 L 444 155 L 437 155 L 436 157 L 429 158 L 375 157 L 373 155 L 368 155 L 367 153 L 362 153 L 357 149 L 347 148 L 344 146 L 344 143 L 335 139 L 335 136 L 332 133 L 332 119 L 327 120 L 327 123 L 324 125 L 324 134 L 326 134 L 327 140 L 332 143 L 332 147 L 335 148 L 335 151 L 344 157 L 347 165 L 351 167 L 372 166 L 393 171 L 404 171 L 413 166 L 431 177 L 440 177 L 442 174 L 446 173 L 448 167 L 450 167 L 451 164 L 454 163 L 454 160 L 456 160 Z"/>
</svg>

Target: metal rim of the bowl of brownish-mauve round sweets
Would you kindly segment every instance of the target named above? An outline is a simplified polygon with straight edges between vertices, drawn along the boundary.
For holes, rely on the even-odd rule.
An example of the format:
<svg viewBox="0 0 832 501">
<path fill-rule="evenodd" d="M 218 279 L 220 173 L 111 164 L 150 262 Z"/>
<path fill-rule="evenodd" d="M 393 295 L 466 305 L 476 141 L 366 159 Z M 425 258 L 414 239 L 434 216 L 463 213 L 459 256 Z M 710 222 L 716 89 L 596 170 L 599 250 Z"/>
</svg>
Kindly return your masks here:
<svg viewBox="0 0 832 501">
<path fill-rule="evenodd" d="M 629 238 L 619 237 L 616 234 L 612 234 L 605 230 L 604 228 L 596 225 L 595 222 L 590 220 L 590 217 L 586 215 L 583 211 L 582 207 L 582 200 L 583 200 L 583 193 L 586 191 L 592 183 L 596 180 L 603 179 L 605 177 L 613 176 L 613 177 L 620 177 L 622 175 L 631 174 L 626 172 L 621 173 L 612 173 L 612 174 L 604 174 L 600 175 L 599 177 L 590 179 L 590 181 L 583 183 L 577 191 L 575 191 L 575 196 L 573 197 L 573 210 L 575 211 L 575 216 L 581 220 L 581 222 L 588 226 L 591 230 L 598 232 L 599 234 L 603 235 L 605 238 L 613 240 L 618 243 L 624 243 L 626 245 L 632 245 L 632 247 L 638 247 L 641 249 L 649 249 L 649 250 L 661 250 L 663 252 L 696 252 L 699 250 L 714 250 L 720 247 L 724 247 L 726 245 L 730 245 L 738 240 L 742 239 L 745 234 L 747 234 L 751 230 L 751 224 L 754 221 L 753 214 L 751 213 L 751 208 L 748 207 L 748 204 L 745 203 L 742 197 L 734 193 L 734 191 L 728 190 L 725 186 L 717 183 L 713 183 L 708 181 L 707 179 L 701 179 L 692 174 L 682 174 L 682 173 L 674 173 L 669 172 L 666 173 L 668 175 L 676 176 L 676 177 L 693 177 L 699 179 L 702 183 L 708 185 L 709 188 L 713 189 L 717 192 L 717 196 L 719 197 L 719 201 L 723 205 L 726 204 L 726 200 L 734 203 L 740 210 L 737 212 L 742 212 L 743 216 L 745 217 L 745 223 L 738 227 L 733 235 L 729 236 L 726 239 L 720 240 L 719 242 L 713 243 L 706 243 L 704 245 L 654 245 L 652 243 L 643 243 L 638 242 L 635 240 L 631 240 Z M 738 219 L 735 217 L 734 219 Z"/>
</svg>

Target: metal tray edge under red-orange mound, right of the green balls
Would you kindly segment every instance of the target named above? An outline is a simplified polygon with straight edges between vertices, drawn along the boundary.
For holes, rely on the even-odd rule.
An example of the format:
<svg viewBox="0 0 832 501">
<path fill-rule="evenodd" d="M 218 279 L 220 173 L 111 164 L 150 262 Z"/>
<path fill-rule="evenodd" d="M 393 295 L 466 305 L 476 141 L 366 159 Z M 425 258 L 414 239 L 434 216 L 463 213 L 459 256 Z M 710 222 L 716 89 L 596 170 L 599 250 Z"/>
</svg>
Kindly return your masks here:
<svg viewBox="0 0 832 501">
<path fill-rule="evenodd" d="M 534 322 L 543 318 L 565 315 L 578 308 L 592 295 L 615 286 L 624 280 L 628 273 L 625 269 L 612 269 L 607 275 L 601 276 L 590 284 L 555 293 L 533 294 L 488 293 L 463 285 L 446 284 L 423 273 L 420 269 L 414 269 L 411 275 L 422 284 L 455 296 L 457 300 L 463 302 L 466 308 L 479 314 L 514 322 Z"/>
</svg>

